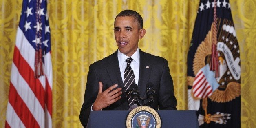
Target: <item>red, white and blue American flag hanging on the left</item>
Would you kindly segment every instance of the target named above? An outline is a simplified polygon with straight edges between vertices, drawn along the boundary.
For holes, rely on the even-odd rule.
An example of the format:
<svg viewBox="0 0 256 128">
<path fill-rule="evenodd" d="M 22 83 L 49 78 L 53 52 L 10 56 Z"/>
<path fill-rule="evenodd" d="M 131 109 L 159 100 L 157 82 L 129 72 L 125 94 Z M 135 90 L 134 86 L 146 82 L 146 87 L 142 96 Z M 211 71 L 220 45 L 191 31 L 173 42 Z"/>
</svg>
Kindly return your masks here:
<svg viewBox="0 0 256 128">
<path fill-rule="evenodd" d="M 51 38 L 46 10 L 46 0 L 23 0 L 11 68 L 6 128 L 52 127 Z"/>
</svg>

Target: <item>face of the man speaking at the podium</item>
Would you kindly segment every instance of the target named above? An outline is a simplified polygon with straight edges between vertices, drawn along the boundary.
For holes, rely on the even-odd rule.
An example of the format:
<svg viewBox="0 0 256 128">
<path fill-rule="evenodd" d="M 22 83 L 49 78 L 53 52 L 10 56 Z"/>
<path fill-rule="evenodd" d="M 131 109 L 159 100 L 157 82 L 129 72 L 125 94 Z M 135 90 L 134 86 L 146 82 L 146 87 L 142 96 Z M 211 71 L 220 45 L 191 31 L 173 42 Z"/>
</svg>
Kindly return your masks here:
<svg viewBox="0 0 256 128">
<path fill-rule="evenodd" d="M 128 57 L 132 56 L 138 48 L 139 39 L 144 36 L 144 33 L 141 35 L 143 29 L 139 29 L 137 21 L 131 16 L 117 17 L 114 27 L 115 41 L 119 51 Z"/>
</svg>

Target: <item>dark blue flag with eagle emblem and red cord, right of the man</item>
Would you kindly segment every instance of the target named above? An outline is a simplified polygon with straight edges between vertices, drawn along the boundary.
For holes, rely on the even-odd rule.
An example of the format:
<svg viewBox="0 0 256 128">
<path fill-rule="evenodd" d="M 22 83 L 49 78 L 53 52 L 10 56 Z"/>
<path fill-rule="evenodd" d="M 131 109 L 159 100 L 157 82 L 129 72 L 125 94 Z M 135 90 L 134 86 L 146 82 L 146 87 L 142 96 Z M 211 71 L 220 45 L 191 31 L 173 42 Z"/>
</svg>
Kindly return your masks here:
<svg viewBox="0 0 256 128">
<path fill-rule="evenodd" d="M 188 109 L 200 128 L 240 128 L 241 62 L 229 0 L 200 0 L 188 52 Z"/>
</svg>

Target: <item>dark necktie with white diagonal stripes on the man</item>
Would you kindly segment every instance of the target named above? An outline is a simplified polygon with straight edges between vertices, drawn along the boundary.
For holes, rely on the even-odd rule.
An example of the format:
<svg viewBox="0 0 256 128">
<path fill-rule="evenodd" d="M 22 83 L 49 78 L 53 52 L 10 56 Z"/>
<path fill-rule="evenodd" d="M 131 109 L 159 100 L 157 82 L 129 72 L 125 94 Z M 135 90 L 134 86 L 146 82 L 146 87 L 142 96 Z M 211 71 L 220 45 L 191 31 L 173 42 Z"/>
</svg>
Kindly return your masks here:
<svg viewBox="0 0 256 128">
<path fill-rule="evenodd" d="M 126 59 L 127 66 L 124 71 L 124 88 L 125 88 L 126 97 L 128 99 L 129 106 L 132 106 L 134 104 L 134 101 L 133 101 L 134 99 L 130 95 L 130 85 L 132 83 L 135 83 L 135 76 L 130 66 L 132 60 L 133 60 L 132 58 Z"/>
</svg>

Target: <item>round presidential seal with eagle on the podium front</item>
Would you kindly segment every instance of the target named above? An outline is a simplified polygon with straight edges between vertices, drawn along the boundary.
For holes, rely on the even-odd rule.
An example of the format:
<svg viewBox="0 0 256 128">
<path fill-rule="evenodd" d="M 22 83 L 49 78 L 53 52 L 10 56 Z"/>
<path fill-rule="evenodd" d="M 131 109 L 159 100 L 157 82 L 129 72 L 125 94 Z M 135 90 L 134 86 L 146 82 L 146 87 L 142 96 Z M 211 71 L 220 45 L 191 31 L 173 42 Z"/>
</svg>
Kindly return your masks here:
<svg viewBox="0 0 256 128">
<path fill-rule="evenodd" d="M 127 128 L 160 128 L 161 119 L 153 108 L 139 106 L 130 111 L 126 118 Z"/>
</svg>

